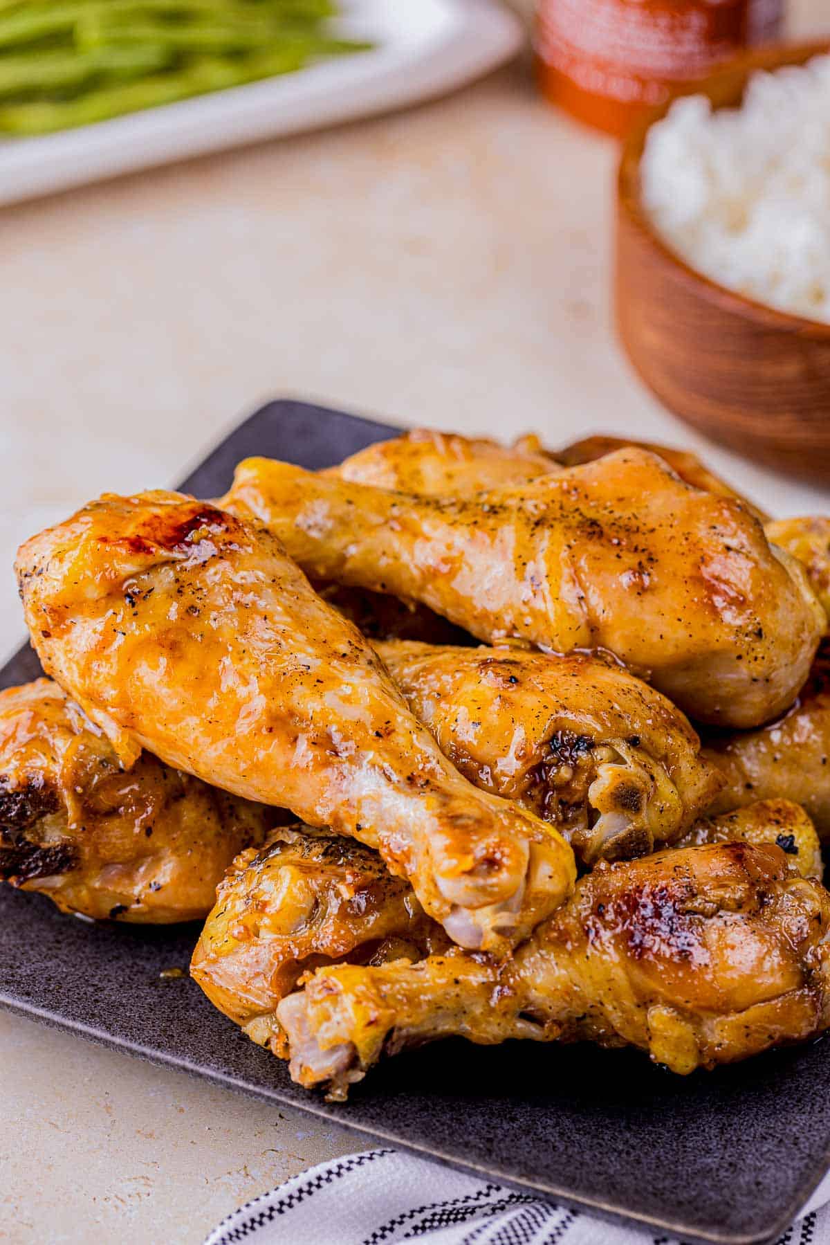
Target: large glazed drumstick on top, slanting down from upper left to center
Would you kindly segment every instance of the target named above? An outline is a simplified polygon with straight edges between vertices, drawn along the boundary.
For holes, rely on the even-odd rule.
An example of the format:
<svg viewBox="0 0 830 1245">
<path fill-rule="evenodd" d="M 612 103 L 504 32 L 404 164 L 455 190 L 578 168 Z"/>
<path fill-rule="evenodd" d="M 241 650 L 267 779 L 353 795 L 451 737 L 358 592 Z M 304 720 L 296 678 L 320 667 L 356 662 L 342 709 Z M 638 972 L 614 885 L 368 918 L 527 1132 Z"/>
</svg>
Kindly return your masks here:
<svg viewBox="0 0 830 1245">
<path fill-rule="evenodd" d="M 266 530 L 178 493 L 107 496 L 16 569 L 44 669 L 122 758 L 147 748 L 378 847 L 465 946 L 504 952 L 570 893 L 564 839 L 453 768 Z"/>
</svg>

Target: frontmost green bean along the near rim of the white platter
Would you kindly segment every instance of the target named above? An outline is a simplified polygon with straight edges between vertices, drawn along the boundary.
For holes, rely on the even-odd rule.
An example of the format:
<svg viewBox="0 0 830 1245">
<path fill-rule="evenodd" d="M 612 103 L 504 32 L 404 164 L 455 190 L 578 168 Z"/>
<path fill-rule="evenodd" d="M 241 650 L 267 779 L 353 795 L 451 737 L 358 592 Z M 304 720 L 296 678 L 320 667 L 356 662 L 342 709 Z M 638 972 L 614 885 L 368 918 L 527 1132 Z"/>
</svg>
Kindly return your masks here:
<svg viewBox="0 0 830 1245">
<path fill-rule="evenodd" d="M 352 51 L 353 45 L 342 50 Z M 180 70 L 137 82 L 103 85 L 75 100 L 32 101 L 0 107 L 0 131 L 19 136 L 45 134 L 107 121 L 142 108 L 290 73 L 302 68 L 314 55 L 307 47 L 275 45 L 244 57 L 200 57 Z"/>
</svg>

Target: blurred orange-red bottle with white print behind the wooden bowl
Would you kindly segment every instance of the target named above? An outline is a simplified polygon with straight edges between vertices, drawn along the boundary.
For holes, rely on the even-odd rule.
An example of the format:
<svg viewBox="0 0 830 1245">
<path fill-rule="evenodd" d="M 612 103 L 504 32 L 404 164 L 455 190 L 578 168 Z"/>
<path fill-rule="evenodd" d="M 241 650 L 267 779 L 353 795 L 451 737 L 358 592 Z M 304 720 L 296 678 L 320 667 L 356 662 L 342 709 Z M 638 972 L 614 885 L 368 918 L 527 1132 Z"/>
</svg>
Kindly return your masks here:
<svg viewBox="0 0 830 1245">
<path fill-rule="evenodd" d="M 623 134 L 671 87 L 780 31 L 783 0 L 539 0 L 541 90 Z"/>
</svg>

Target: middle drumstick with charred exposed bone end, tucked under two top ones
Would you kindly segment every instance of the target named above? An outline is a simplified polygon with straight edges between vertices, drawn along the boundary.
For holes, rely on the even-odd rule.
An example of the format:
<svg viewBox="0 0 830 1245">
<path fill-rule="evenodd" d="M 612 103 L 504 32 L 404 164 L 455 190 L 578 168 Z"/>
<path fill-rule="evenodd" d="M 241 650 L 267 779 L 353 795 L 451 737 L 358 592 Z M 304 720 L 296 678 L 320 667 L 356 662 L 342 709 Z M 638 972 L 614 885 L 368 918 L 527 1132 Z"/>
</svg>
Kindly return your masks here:
<svg viewBox="0 0 830 1245">
<path fill-rule="evenodd" d="M 553 822 L 586 863 L 671 843 L 720 786 L 679 710 L 610 659 L 375 647 L 453 764 Z"/>
</svg>

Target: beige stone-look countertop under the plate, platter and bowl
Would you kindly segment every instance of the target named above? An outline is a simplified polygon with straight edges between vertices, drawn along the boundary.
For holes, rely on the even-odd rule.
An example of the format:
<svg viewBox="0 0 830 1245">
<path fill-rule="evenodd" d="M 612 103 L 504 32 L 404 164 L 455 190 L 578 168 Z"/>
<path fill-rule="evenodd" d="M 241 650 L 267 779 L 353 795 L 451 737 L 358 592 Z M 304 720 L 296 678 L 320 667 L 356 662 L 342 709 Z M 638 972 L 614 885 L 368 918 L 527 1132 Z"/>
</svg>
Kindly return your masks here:
<svg viewBox="0 0 830 1245">
<path fill-rule="evenodd" d="M 803 0 L 795 30 L 830 26 Z M 182 476 L 259 402 L 553 446 L 703 448 L 767 509 L 823 497 L 704 446 L 611 334 L 615 148 L 518 68 L 407 113 L 0 213 L 0 647 L 16 544 Z M 198 1245 L 360 1137 L 0 1013 L 0 1240 Z M 346 1111 L 345 1111 L 346 1113 Z M 327 1245 L 325 1234 L 321 1245 Z"/>
</svg>

